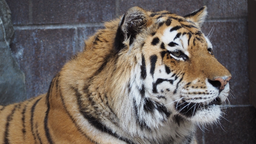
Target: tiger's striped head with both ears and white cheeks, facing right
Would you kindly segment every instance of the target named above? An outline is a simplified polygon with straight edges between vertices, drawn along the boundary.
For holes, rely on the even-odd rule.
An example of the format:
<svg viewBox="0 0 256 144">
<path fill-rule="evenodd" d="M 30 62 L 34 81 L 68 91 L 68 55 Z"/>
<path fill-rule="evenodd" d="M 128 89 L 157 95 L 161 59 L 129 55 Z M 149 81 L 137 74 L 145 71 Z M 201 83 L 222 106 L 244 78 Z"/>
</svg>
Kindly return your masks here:
<svg viewBox="0 0 256 144">
<path fill-rule="evenodd" d="M 118 83 L 144 127 L 175 117 L 201 124 L 221 117 L 231 74 L 200 30 L 206 15 L 206 7 L 185 17 L 134 7 L 121 19 L 115 47 L 119 63 L 131 69 Z"/>
</svg>

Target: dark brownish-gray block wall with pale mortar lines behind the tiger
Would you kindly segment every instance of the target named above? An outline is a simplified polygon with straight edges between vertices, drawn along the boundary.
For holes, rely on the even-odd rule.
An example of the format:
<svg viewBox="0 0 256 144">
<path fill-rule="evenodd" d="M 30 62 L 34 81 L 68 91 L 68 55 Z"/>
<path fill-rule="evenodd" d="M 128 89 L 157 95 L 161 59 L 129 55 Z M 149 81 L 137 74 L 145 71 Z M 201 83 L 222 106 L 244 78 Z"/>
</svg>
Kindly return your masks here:
<svg viewBox="0 0 256 144">
<path fill-rule="evenodd" d="M 132 6 L 188 14 L 206 5 L 209 16 L 202 31 L 211 37 L 215 57 L 232 74 L 231 103 L 222 126 L 202 127 L 201 144 L 256 143 L 256 109 L 249 103 L 247 0 L 6 0 L 14 25 L 10 45 L 25 73 L 27 98 L 46 93 L 64 63 L 82 50 L 83 40 L 103 21 Z M 227 120 L 226 120 L 227 119 Z"/>
</svg>

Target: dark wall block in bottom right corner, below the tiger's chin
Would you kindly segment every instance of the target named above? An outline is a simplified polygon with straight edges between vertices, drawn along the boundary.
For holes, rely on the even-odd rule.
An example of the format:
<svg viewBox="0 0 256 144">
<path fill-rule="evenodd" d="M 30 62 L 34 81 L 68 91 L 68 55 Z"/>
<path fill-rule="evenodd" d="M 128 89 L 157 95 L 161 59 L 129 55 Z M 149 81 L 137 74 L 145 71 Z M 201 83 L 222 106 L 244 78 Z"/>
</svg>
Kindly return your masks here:
<svg viewBox="0 0 256 144">
<path fill-rule="evenodd" d="M 222 125 L 205 130 L 205 144 L 254 144 L 256 143 L 256 109 L 234 107 L 227 109 Z"/>
</svg>

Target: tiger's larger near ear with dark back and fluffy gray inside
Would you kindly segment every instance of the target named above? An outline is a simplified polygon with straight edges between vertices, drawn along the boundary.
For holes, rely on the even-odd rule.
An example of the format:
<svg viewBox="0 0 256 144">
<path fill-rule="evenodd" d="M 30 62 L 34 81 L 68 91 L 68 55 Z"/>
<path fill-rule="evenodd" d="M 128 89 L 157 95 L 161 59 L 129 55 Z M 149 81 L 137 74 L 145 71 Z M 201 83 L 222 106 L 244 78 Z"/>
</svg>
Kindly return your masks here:
<svg viewBox="0 0 256 144">
<path fill-rule="evenodd" d="M 146 11 L 140 7 L 130 8 L 121 18 L 117 33 L 115 36 L 115 51 L 127 47 L 127 44 L 131 45 L 134 38 L 138 33 L 146 27 L 147 14 Z"/>
</svg>

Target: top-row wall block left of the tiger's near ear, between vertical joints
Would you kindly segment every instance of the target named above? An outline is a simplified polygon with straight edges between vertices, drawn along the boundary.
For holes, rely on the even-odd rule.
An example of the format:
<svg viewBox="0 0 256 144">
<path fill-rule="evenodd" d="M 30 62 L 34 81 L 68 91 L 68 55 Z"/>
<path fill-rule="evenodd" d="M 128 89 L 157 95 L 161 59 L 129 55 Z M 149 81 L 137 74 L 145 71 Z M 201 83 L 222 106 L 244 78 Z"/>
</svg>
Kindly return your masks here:
<svg viewBox="0 0 256 144">
<path fill-rule="evenodd" d="M 33 23 L 101 22 L 115 16 L 115 0 L 32 0 Z"/>
</svg>

